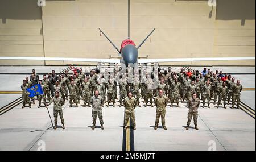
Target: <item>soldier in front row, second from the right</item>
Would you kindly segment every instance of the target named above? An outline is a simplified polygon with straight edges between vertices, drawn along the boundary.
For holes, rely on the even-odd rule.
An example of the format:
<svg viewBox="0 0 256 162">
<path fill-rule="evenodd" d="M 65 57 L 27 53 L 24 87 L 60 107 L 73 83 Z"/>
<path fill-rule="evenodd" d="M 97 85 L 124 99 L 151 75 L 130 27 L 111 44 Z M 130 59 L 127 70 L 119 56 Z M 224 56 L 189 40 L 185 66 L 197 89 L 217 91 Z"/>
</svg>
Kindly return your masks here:
<svg viewBox="0 0 256 162">
<path fill-rule="evenodd" d="M 163 95 L 163 90 L 160 89 L 158 92 L 158 96 L 155 98 L 155 106 L 156 106 L 156 119 L 155 119 L 155 130 L 158 128 L 159 118 L 162 119 L 162 126 L 164 130 L 167 130 L 166 128 L 166 106 L 168 104 L 168 98 Z"/>
</svg>

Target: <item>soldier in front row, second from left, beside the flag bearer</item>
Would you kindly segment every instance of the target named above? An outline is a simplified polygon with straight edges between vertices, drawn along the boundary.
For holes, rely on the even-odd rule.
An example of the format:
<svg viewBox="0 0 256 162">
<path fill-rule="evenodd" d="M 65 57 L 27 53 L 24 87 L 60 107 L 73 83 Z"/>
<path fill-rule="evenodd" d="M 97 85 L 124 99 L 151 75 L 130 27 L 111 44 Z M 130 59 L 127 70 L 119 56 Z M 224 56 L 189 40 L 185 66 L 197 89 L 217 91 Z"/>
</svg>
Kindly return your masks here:
<svg viewBox="0 0 256 162">
<path fill-rule="evenodd" d="M 102 106 L 104 105 L 104 99 L 98 94 L 98 90 L 95 90 L 94 95 L 90 98 L 90 104 L 92 104 L 92 117 L 93 117 L 93 127 L 95 129 L 97 115 L 100 119 L 101 129 L 103 130 L 103 118 L 102 118 Z"/>
</svg>

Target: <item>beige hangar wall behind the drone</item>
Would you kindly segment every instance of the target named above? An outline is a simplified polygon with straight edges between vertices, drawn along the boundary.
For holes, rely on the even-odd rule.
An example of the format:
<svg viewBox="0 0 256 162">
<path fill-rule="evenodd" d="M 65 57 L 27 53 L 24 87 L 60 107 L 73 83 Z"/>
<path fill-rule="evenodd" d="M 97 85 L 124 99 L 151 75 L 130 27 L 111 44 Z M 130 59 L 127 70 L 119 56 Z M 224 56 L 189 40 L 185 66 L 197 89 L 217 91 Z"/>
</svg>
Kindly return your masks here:
<svg viewBox="0 0 256 162">
<path fill-rule="evenodd" d="M 100 27 L 120 47 L 127 38 L 127 0 L 46 0 L 14 7 L 1 1 L 0 56 L 109 58 L 117 56 L 100 36 Z M 2 8 L 2 3 L 5 7 Z M 156 28 L 139 56 L 255 57 L 255 0 L 130 0 L 130 37 L 140 44 Z M 13 6 L 14 5 L 14 6 Z M 15 12 L 10 12 L 14 10 Z M 43 27 L 43 28 L 42 28 Z M 44 61 L 0 61 L 1 64 L 44 64 Z M 46 61 L 67 65 L 68 61 Z M 208 61 L 162 65 L 255 65 L 255 61 Z"/>
</svg>

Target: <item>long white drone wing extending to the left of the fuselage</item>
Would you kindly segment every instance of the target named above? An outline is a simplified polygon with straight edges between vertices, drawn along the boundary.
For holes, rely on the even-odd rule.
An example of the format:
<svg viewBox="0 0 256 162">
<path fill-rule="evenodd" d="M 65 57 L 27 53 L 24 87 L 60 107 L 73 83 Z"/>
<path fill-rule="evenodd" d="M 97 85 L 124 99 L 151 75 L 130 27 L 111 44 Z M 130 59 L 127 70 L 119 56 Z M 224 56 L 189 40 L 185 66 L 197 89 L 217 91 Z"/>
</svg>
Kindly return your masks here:
<svg viewBox="0 0 256 162">
<path fill-rule="evenodd" d="M 120 63 L 119 59 L 91 59 L 69 57 L 0 57 L 0 60 L 42 60 L 42 61 L 81 61 L 96 63 Z"/>
</svg>

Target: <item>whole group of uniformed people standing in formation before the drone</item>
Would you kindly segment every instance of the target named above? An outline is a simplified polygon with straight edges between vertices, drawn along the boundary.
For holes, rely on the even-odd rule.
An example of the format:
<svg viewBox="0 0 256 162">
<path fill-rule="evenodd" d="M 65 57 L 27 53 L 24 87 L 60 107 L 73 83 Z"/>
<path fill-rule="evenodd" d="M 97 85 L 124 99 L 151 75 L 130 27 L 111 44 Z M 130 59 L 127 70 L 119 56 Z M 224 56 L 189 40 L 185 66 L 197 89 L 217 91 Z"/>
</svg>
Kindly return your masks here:
<svg viewBox="0 0 256 162">
<path fill-rule="evenodd" d="M 96 118 L 100 119 L 101 128 L 103 127 L 102 119 L 102 106 L 106 104 L 108 107 L 110 103 L 119 101 L 119 106 L 125 107 L 125 126 L 127 128 L 127 121 L 131 118 L 133 121 L 133 128 L 135 130 L 135 107 L 141 107 L 140 100 L 144 102 L 144 106 L 156 106 L 156 121 L 155 129 L 158 128 L 159 118 L 162 119 L 162 126 L 165 126 L 165 113 L 166 106 L 170 103 L 170 107 L 176 103 L 177 107 L 179 102 L 187 102 L 188 112 L 188 129 L 190 121 L 193 117 L 196 130 L 197 127 L 197 110 L 200 105 L 200 99 L 203 100 L 203 106 L 207 103 L 210 108 L 210 100 L 213 99 L 213 104 L 217 104 L 217 108 L 223 101 L 224 108 L 232 102 L 231 109 L 234 109 L 237 103 L 237 109 L 240 109 L 240 95 L 242 85 L 240 80 L 232 77 L 230 74 L 223 74 L 222 71 L 216 70 L 214 73 L 210 69 L 204 68 L 202 72 L 198 70 L 185 70 L 180 69 L 180 72 L 172 72 L 171 67 L 164 70 L 164 73 L 159 72 L 158 68 L 148 70 L 143 65 L 139 68 L 133 68 L 130 65 L 126 69 L 121 69 L 118 64 L 115 65 L 113 72 L 105 69 L 104 73 L 96 74 L 95 70 L 91 70 L 90 74 L 86 75 L 79 69 L 79 72 L 69 75 L 66 70 L 64 74 L 59 76 L 55 74 L 55 70 L 48 75 L 44 74 L 43 79 L 40 80 L 39 75 L 32 70 L 30 78 L 26 77 L 23 80 L 22 99 L 23 106 L 28 103 L 31 108 L 31 101 L 35 104 L 35 98 L 29 97 L 27 88 L 35 84 L 42 86 L 43 95 L 38 95 L 39 101 L 38 108 L 43 104 L 45 107 L 54 102 L 54 117 L 55 129 L 57 125 L 57 115 L 60 115 L 61 123 L 64 127 L 64 119 L 62 113 L 62 106 L 65 100 L 68 100 L 69 94 L 69 107 L 78 105 L 82 101 L 83 107 L 92 105 L 93 126 L 95 128 Z M 118 99 L 119 87 L 119 99 Z M 49 102 L 47 103 L 46 100 Z M 150 105 L 149 105 L 150 104 Z"/>
</svg>

